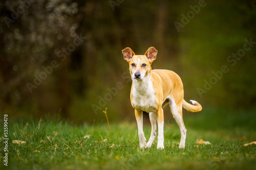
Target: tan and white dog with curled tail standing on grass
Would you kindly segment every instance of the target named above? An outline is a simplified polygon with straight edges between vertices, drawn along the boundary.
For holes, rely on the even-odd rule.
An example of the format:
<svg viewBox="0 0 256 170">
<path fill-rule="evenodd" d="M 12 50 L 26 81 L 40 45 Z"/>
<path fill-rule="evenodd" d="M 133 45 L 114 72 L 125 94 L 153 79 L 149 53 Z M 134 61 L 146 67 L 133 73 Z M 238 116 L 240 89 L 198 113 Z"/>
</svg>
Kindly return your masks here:
<svg viewBox="0 0 256 170">
<path fill-rule="evenodd" d="M 129 63 L 132 77 L 131 103 L 135 109 L 138 124 L 140 148 L 150 148 L 157 133 L 157 148 L 164 149 L 163 145 L 163 107 L 169 103 L 181 132 L 179 148 L 185 147 L 186 128 L 182 118 L 182 107 L 191 112 L 202 110 L 202 106 L 193 100 L 187 103 L 183 97 L 183 84 L 180 77 L 174 72 L 166 69 L 151 69 L 151 64 L 156 60 L 157 50 L 150 47 L 144 55 L 135 55 L 130 47 L 122 50 L 124 60 Z M 143 133 L 143 111 L 150 114 L 152 125 L 151 136 L 148 142 Z"/>
</svg>

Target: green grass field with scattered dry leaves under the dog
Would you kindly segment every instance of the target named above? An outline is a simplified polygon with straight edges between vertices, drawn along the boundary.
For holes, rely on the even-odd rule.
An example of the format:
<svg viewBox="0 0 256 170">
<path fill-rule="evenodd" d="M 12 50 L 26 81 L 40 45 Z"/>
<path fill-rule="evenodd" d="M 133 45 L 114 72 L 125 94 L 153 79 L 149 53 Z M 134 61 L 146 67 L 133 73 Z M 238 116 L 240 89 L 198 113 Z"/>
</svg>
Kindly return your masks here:
<svg viewBox="0 0 256 170">
<path fill-rule="evenodd" d="M 9 117 L 8 167 L 3 162 L 1 122 L 0 169 L 255 169 L 255 144 L 243 145 L 256 140 L 255 111 L 208 108 L 201 113 L 184 114 L 185 149 L 178 148 L 177 124 L 166 120 L 165 150 L 156 149 L 157 137 L 151 149 L 139 149 L 135 118 L 132 124 L 78 126 L 47 117 L 28 121 Z M 150 132 L 150 125 L 145 125 L 147 140 Z M 211 144 L 196 143 L 197 139 Z"/>
</svg>

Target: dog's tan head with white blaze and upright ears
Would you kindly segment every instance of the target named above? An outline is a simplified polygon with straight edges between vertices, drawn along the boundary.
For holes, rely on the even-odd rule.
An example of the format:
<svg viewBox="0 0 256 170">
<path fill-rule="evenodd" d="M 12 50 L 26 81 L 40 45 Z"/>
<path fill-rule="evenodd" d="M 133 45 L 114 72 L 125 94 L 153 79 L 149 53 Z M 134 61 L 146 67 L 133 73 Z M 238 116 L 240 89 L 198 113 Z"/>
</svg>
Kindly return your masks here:
<svg viewBox="0 0 256 170">
<path fill-rule="evenodd" d="M 144 55 L 135 55 L 130 47 L 122 50 L 123 58 L 129 63 L 132 79 L 141 80 L 151 72 L 151 64 L 156 60 L 157 50 L 155 47 L 147 49 Z"/>
</svg>

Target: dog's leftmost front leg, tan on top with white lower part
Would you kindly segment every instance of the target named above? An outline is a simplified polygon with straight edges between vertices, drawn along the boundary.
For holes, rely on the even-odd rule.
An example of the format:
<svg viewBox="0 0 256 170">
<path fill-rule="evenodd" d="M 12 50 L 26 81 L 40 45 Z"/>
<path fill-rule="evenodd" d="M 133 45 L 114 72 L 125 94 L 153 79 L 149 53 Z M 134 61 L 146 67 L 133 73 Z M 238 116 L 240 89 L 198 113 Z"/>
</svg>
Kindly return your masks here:
<svg viewBox="0 0 256 170">
<path fill-rule="evenodd" d="M 140 140 L 140 148 L 144 148 L 146 144 L 146 138 L 143 132 L 143 112 L 142 110 L 135 110 L 135 116 L 138 124 L 138 134 Z"/>
</svg>

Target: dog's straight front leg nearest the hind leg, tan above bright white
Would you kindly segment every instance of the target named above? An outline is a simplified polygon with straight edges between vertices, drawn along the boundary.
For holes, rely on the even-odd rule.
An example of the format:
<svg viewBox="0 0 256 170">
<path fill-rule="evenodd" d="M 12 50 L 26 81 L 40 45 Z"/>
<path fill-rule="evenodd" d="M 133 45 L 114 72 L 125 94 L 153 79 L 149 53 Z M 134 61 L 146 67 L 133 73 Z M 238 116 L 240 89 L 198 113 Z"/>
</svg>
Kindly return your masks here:
<svg viewBox="0 0 256 170">
<path fill-rule="evenodd" d="M 163 145 L 163 109 L 159 108 L 157 111 L 157 125 L 158 125 L 158 142 L 157 149 L 164 149 Z"/>
</svg>

